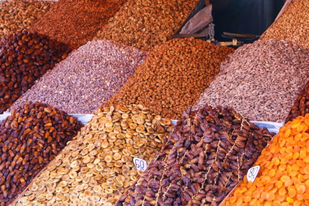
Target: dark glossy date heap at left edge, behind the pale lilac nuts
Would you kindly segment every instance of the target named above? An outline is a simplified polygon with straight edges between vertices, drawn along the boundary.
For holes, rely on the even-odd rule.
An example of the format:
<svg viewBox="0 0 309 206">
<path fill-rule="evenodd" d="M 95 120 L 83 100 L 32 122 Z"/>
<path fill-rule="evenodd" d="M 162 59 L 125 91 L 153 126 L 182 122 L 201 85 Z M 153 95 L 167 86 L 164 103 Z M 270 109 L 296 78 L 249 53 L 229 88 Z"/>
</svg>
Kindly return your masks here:
<svg viewBox="0 0 309 206">
<path fill-rule="evenodd" d="M 36 32 L 16 32 L 0 41 L 0 114 L 70 49 Z"/>
</svg>

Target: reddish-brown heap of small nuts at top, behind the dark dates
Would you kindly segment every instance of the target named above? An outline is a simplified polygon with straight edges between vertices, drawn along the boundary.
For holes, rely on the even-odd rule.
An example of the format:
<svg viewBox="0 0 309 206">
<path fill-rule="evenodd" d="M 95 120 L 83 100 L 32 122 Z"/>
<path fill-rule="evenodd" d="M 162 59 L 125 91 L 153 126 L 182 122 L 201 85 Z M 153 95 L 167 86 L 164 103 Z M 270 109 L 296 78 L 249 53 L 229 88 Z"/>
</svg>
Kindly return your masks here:
<svg viewBox="0 0 309 206">
<path fill-rule="evenodd" d="M 91 40 L 126 0 L 59 0 L 30 31 L 77 49 Z"/>
</svg>

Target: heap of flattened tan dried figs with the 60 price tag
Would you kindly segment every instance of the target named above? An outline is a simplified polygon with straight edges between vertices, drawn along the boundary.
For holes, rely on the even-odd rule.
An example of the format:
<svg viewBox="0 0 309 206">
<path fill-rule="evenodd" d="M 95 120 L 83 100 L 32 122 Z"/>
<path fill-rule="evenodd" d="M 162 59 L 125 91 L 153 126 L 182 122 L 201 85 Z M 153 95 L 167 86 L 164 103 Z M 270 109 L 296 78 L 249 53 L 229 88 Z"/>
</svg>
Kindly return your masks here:
<svg viewBox="0 0 309 206">
<path fill-rule="evenodd" d="M 142 105 L 99 110 L 16 205 L 112 206 L 142 173 L 133 158 L 150 161 L 172 126 Z"/>
</svg>

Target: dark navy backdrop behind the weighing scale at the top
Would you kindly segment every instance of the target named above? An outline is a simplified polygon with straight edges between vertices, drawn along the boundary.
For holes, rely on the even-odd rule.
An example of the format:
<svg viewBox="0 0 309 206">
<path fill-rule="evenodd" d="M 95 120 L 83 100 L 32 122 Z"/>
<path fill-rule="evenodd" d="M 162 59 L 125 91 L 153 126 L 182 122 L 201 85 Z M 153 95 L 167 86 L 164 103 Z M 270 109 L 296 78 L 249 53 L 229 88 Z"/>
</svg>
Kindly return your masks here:
<svg viewBox="0 0 309 206">
<path fill-rule="evenodd" d="M 261 35 L 273 23 L 285 0 L 210 0 L 215 39 L 223 32 Z"/>
</svg>

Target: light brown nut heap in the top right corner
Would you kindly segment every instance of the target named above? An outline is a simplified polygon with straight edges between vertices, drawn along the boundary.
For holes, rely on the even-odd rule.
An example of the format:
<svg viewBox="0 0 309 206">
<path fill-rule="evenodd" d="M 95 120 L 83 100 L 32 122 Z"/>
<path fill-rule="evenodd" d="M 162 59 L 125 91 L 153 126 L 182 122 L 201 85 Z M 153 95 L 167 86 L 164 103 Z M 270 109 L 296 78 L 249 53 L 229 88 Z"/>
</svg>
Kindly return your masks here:
<svg viewBox="0 0 309 206">
<path fill-rule="evenodd" d="M 271 26 L 260 40 L 282 39 L 309 48 L 309 0 L 290 3 L 286 11 Z"/>
</svg>

